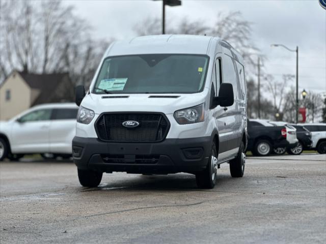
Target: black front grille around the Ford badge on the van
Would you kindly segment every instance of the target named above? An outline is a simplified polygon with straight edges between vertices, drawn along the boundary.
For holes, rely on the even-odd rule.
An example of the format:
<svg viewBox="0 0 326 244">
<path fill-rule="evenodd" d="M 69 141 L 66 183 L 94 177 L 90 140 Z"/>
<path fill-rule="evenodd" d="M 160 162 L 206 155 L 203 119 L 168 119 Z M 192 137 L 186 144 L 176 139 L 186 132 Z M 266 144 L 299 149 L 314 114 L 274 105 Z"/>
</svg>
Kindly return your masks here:
<svg viewBox="0 0 326 244">
<path fill-rule="evenodd" d="M 129 120 L 139 125 L 122 125 Z M 161 113 L 103 113 L 95 123 L 98 138 L 112 142 L 158 142 L 165 139 L 169 128 L 169 120 Z"/>
</svg>

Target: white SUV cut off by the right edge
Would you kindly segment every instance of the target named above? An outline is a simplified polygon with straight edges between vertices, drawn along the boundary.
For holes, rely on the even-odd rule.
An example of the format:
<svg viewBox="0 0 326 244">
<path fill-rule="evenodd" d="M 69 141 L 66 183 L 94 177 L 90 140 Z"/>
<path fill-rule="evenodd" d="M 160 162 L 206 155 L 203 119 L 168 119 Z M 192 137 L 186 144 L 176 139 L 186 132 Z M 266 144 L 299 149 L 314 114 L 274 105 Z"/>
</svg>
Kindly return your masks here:
<svg viewBox="0 0 326 244">
<path fill-rule="evenodd" d="M 326 124 L 300 124 L 311 132 L 312 148 L 319 154 L 326 154 Z"/>
</svg>

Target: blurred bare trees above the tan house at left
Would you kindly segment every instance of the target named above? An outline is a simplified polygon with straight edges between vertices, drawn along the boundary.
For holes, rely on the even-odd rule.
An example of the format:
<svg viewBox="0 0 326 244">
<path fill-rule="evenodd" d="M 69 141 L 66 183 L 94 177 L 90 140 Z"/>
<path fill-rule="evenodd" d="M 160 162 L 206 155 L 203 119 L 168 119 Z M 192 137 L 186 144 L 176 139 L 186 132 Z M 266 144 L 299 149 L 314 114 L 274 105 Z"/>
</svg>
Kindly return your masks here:
<svg viewBox="0 0 326 244">
<path fill-rule="evenodd" d="M 87 84 L 108 41 L 93 40 L 91 28 L 61 1 L 1 1 L 0 81 L 13 69 L 68 72 Z"/>
</svg>

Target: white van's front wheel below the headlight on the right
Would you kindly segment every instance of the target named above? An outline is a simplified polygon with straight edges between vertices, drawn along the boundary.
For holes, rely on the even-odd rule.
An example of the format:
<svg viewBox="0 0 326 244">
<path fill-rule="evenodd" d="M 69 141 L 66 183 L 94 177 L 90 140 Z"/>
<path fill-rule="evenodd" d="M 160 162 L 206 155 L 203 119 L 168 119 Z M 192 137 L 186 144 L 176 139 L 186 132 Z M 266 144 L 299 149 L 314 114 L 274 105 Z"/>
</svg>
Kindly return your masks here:
<svg viewBox="0 0 326 244">
<path fill-rule="evenodd" d="M 196 182 L 199 188 L 214 188 L 216 184 L 216 172 L 218 170 L 217 155 L 216 145 L 213 142 L 206 169 L 196 174 Z"/>
</svg>

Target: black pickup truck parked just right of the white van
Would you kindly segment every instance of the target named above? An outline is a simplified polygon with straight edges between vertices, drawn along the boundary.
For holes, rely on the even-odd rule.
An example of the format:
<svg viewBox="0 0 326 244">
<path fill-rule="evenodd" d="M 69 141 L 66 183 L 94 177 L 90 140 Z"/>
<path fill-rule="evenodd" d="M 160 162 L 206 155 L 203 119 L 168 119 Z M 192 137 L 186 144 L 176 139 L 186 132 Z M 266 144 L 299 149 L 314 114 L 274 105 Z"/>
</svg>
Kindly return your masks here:
<svg viewBox="0 0 326 244">
<path fill-rule="evenodd" d="M 287 141 L 285 126 L 273 126 L 266 121 L 248 120 L 248 146 L 255 156 L 268 156 L 274 148 L 292 148 L 296 143 Z"/>
</svg>

